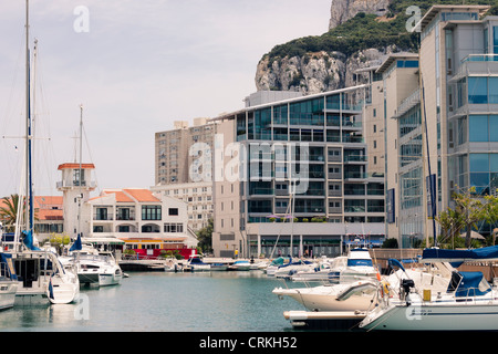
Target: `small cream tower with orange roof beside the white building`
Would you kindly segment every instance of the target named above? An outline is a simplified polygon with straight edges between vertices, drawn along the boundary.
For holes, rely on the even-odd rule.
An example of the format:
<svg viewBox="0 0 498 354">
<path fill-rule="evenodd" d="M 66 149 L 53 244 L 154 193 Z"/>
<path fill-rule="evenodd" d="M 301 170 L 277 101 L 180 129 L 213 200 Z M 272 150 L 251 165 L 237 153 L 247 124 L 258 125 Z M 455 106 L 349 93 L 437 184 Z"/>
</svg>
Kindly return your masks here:
<svg viewBox="0 0 498 354">
<path fill-rule="evenodd" d="M 62 180 L 58 183 L 58 190 L 63 194 L 64 233 L 76 238 L 90 233 L 90 208 L 86 204 L 90 192 L 95 190 L 96 183 L 92 180 L 93 164 L 62 164 L 58 168 L 62 171 Z M 86 221 L 85 221 L 86 220 Z"/>
</svg>

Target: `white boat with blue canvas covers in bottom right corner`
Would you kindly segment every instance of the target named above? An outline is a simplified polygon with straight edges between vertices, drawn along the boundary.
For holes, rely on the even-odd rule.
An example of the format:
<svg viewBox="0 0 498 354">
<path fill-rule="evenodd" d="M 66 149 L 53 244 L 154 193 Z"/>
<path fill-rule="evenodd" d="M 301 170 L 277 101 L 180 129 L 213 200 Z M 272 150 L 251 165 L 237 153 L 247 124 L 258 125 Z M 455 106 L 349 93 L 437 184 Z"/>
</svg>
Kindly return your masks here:
<svg viewBox="0 0 498 354">
<path fill-rule="evenodd" d="M 423 261 L 432 261 L 430 256 L 434 254 L 439 261 L 444 258 L 449 260 L 449 256 L 457 256 L 460 261 L 490 260 L 498 259 L 498 248 L 428 250 L 427 253 L 424 251 Z M 489 285 L 481 272 L 458 272 L 449 264 L 447 269 L 453 270 L 453 273 L 445 292 L 424 291 L 417 289 L 409 279 L 404 280 L 400 296 L 384 298 L 378 306 L 366 314 L 360 327 L 367 331 L 497 331 L 497 289 Z M 391 289 L 396 291 L 393 287 Z"/>
</svg>

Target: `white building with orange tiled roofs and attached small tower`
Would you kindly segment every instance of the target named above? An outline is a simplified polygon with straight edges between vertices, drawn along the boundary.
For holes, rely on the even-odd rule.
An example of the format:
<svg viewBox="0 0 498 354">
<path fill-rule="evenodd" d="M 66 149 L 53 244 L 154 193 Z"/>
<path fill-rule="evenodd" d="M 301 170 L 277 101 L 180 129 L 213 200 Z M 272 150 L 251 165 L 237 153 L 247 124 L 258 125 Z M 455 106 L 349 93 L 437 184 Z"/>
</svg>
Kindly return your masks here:
<svg viewBox="0 0 498 354">
<path fill-rule="evenodd" d="M 59 232 L 75 239 L 123 240 L 127 248 L 195 248 L 197 239 L 188 228 L 187 205 L 178 199 L 141 188 L 106 189 L 91 197 L 96 183 L 93 164 L 62 164 L 63 228 Z M 46 197 L 45 197 L 46 198 Z M 60 221 L 62 222 L 62 221 Z M 120 241 L 122 243 L 122 241 Z"/>
</svg>

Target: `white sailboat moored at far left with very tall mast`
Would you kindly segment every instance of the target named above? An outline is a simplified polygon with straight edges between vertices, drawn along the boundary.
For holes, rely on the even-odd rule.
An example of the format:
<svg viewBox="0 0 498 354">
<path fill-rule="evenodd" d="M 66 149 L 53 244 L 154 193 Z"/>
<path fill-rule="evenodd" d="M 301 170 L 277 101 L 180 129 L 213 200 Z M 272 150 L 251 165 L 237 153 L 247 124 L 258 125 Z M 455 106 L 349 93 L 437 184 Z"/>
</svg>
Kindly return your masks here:
<svg viewBox="0 0 498 354">
<path fill-rule="evenodd" d="M 25 1 L 25 214 L 21 230 L 21 195 L 14 235 L 14 247 L 9 250 L 17 271 L 15 304 L 58 304 L 75 301 L 80 293 L 77 277 L 62 267 L 58 256 L 34 244 L 34 207 L 32 190 L 32 135 L 30 101 L 29 0 Z M 22 184 L 21 184 L 22 185 Z M 21 242 L 22 241 L 22 242 Z"/>
</svg>

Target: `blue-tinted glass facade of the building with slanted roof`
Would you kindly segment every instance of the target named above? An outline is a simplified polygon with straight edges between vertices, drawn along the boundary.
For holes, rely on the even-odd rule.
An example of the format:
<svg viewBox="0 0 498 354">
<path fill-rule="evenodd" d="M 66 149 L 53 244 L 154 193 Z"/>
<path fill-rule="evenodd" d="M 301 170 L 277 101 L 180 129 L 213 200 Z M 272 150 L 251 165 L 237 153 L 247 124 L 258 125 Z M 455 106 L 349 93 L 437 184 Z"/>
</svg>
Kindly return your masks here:
<svg viewBox="0 0 498 354">
<path fill-rule="evenodd" d="M 384 221 L 383 179 L 370 181 L 366 174 L 362 97 L 362 90 L 346 90 L 248 107 L 236 115 L 237 140 L 250 149 L 248 181 L 242 183 L 245 219 L 272 222 L 270 216 L 288 212 L 291 166 L 308 177 L 305 190 L 294 195 L 298 222 Z M 268 150 L 252 154 L 252 146 L 261 143 Z"/>
</svg>

